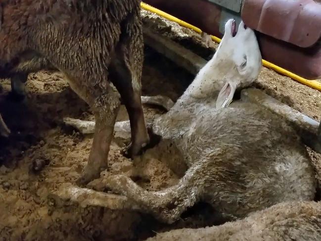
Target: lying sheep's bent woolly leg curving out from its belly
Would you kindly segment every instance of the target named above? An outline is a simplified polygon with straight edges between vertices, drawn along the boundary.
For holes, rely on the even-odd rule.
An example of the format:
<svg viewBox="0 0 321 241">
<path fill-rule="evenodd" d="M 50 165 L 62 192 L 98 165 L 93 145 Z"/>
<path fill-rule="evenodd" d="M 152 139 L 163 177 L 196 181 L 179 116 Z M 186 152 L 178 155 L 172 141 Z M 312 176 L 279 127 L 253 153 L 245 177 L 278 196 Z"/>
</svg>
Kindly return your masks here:
<svg viewBox="0 0 321 241">
<path fill-rule="evenodd" d="M 107 175 L 92 181 L 88 187 L 97 191 L 109 189 L 125 195 L 134 202 L 133 205 L 140 206 L 142 212 L 150 213 L 158 220 L 171 224 L 177 221 L 188 207 L 202 199 L 206 165 L 206 161 L 200 161 L 191 166 L 177 185 L 158 192 L 148 192 L 124 175 Z"/>
</svg>

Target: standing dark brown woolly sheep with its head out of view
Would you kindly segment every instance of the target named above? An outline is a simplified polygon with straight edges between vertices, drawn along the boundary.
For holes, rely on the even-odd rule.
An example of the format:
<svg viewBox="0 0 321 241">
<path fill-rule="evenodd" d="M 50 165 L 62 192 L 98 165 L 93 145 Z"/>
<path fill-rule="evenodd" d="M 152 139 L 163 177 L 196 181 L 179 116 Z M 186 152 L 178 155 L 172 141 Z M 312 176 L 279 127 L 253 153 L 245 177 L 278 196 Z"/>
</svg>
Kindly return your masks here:
<svg viewBox="0 0 321 241">
<path fill-rule="evenodd" d="M 79 184 L 98 178 L 107 167 L 120 96 L 131 121 L 128 155 L 149 143 L 140 100 L 140 1 L 2 0 L 0 43 L 0 66 L 26 54 L 42 56 L 91 106 L 96 127 Z"/>
</svg>

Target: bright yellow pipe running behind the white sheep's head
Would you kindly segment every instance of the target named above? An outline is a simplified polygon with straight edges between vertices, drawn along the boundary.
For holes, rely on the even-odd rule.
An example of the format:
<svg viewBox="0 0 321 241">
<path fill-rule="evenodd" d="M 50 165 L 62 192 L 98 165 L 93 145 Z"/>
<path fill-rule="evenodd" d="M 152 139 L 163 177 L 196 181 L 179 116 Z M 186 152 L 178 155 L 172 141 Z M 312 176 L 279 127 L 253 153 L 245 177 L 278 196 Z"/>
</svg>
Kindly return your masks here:
<svg viewBox="0 0 321 241">
<path fill-rule="evenodd" d="M 159 9 L 153 7 L 153 6 L 150 6 L 150 5 L 148 5 L 146 3 L 143 3 L 143 2 L 140 3 L 140 6 L 141 6 L 141 8 L 143 8 L 143 9 L 145 9 L 147 11 L 156 13 L 157 15 L 168 19 L 169 21 L 176 22 L 176 23 L 178 23 L 179 25 L 181 25 L 181 26 L 183 26 L 185 28 L 192 29 L 196 33 L 199 33 L 199 34 L 202 33 L 202 30 L 200 30 L 199 28 L 197 28 L 197 27 L 195 27 L 195 26 L 193 26 L 193 25 L 191 25 L 189 23 L 186 23 L 186 22 L 182 21 L 181 19 L 178 19 L 177 17 L 174 17 L 174 16 L 172 16 L 172 15 L 170 15 L 170 14 L 164 12 L 164 11 L 161 11 L 161 10 L 159 10 Z M 220 43 L 221 42 L 221 39 L 218 38 L 218 37 L 215 37 L 215 36 L 211 35 L 211 38 L 216 43 Z M 287 77 L 290 77 L 291 79 L 296 80 L 296 81 L 300 82 L 303 85 L 306 85 L 306 86 L 309 86 L 309 87 L 311 87 L 313 89 L 321 91 L 321 83 L 319 83 L 318 81 L 307 80 L 305 78 L 302 78 L 302 77 L 300 77 L 300 76 L 298 76 L 298 75 L 296 75 L 296 74 L 294 74 L 294 73 L 292 73 L 292 72 L 290 72 L 290 71 L 288 71 L 286 69 L 283 69 L 283 68 L 281 68 L 281 67 L 279 67 L 279 66 L 277 66 L 277 65 L 275 65 L 273 63 L 270 63 L 269 61 L 266 61 L 264 59 L 262 60 L 262 62 L 263 62 L 263 66 L 265 66 L 265 67 L 267 67 L 269 69 L 273 69 L 276 72 L 278 72 L 278 73 L 280 73 L 282 75 L 285 75 Z"/>
</svg>

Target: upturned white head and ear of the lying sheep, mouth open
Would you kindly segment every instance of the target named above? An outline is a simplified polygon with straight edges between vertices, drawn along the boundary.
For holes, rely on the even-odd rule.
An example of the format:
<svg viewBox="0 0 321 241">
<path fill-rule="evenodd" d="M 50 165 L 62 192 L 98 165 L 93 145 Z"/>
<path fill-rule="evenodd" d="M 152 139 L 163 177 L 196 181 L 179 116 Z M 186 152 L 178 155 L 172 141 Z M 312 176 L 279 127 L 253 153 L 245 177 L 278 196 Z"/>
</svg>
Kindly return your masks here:
<svg viewBox="0 0 321 241">
<path fill-rule="evenodd" d="M 227 107 L 236 89 L 251 85 L 261 71 L 262 56 L 254 31 L 243 21 L 236 30 L 235 20 L 229 19 L 214 58 L 215 68 L 225 83 L 216 101 L 219 109 Z"/>
</svg>

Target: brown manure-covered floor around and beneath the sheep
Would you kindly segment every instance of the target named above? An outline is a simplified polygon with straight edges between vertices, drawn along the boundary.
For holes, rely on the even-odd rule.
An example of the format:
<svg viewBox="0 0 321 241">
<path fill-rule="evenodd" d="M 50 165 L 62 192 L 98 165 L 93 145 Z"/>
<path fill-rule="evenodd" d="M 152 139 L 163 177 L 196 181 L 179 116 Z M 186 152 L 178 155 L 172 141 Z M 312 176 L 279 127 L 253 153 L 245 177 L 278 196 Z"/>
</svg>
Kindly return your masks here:
<svg viewBox="0 0 321 241">
<path fill-rule="evenodd" d="M 209 59 L 217 47 L 207 48 L 190 30 L 142 11 L 144 24 L 184 47 Z M 143 95 L 165 95 L 174 101 L 193 76 L 150 48 L 145 48 Z M 0 139 L 0 240 L 144 240 L 162 231 L 182 227 L 204 227 L 218 223 L 208 205 L 200 203 L 173 225 L 163 225 L 136 212 L 82 207 L 59 202 L 51 193 L 74 183 L 85 166 L 91 135 L 81 135 L 62 124 L 64 117 L 93 120 L 92 113 L 57 72 L 31 74 L 24 103 L 10 99 L 10 83 L 0 80 L 0 112 L 13 135 Z M 321 92 L 264 68 L 255 86 L 282 102 L 320 121 Z M 146 119 L 162 110 L 144 106 Z M 128 119 L 122 106 L 118 120 Z M 182 173 L 166 164 L 168 154 L 148 150 L 133 161 L 120 153 L 126 137 L 117 136 L 111 145 L 109 171 L 126 174 L 150 191 L 175 184 Z M 321 174 L 321 156 L 310 155 Z M 138 175 L 139 174 L 139 175 Z M 139 177 L 138 177 L 139 176 Z M 320 178 L 319 178 L 320 180 Z"/>
</svg>

